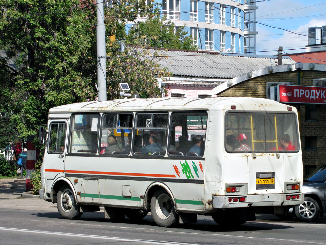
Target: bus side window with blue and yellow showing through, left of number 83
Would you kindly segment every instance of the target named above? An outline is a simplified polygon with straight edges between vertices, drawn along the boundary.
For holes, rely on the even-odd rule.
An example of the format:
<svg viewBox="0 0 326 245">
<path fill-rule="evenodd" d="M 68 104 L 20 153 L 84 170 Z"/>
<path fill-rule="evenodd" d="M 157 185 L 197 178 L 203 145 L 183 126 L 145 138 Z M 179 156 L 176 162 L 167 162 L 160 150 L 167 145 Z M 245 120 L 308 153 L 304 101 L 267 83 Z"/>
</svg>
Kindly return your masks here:
<svg viewBox="0 0 326 245">
<path fill-rule="evenodd" d="M 100 154 L 129 154 L 132 143 L 132 114 L 104 114 Z"/>
</svg>

